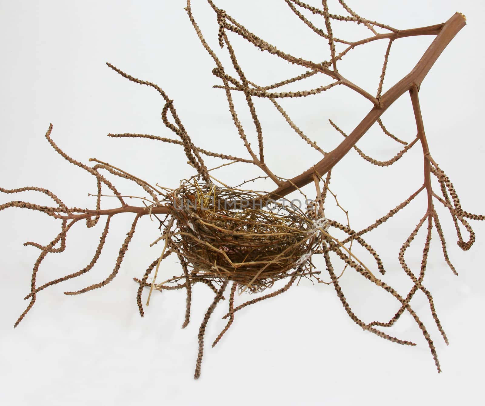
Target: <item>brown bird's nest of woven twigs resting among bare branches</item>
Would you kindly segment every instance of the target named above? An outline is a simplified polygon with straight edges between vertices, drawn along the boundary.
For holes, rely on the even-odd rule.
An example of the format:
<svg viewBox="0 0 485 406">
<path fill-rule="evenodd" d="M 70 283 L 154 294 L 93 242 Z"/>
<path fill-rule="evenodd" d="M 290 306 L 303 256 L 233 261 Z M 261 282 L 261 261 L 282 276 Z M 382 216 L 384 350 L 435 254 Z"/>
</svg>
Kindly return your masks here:
<svg viewBox="0 0 485 406">
<path fill-rule="evenodd" d="M 309 275 L 319 233 L 290 202 L 258 192 L 186 182 L 171 194 L 175 219 L 169 244 L 204 279 L 236 281 L 251 292 Z"/>
</svg>

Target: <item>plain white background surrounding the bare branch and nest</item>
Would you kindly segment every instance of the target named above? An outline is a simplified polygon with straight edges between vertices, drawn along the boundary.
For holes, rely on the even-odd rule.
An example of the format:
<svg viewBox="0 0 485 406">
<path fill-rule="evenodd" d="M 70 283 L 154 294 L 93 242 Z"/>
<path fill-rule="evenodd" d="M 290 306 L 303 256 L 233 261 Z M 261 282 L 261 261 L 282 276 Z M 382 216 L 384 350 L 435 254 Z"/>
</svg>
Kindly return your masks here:
<svg viewBox="0 0 485 406">
<path fill-rule="evenodd" d="M 309 32 L 283 1 L 226 0 L 216 4 L 282 50 L 314 61 L 327 58 L 326 41 Z M 349 5 L 366 18 L 399 29 L 444 22 L 456 9 L 467 16 L 467 26 L 423 82 L 420 98 L 435 160 L 452 179 L 464 209 L 484 213 L 483 3 L 372 0 L 366 1 L 365 7 L 359 2 L 349 1 Z M 223 91 L 211 88 L 219 83 L 210 74 L 214 64 L 198 43 L 184 6 L 183 1 L 1 1 L 0 185 L 47 187 L 70 206 L 93 207 L 94 199 L 87 193 L 96 192 L 96 183 L 52 150 L 43 137 L 50 122 L 54 125 L 54 141 L 82 162 L 97 157 L 167 187 L 176 187 L 180 179 L 193 174 L 177 145 L 106 137 L 110 132 L 172 134 L 160 120 L 160 96 L 121 78 L 104 62 L 160 85 L 174 99 L 196 145 L 243 156 Z M 332 7 L 334 12 L 344 13 L 338 5 L 332 3 Z M 208 5 L 194 0 L 193 9 L 213 49 L 225 55 L 225 50 L 217 47 L 215 17 Z M 349 25 L 339 29 L 335 31 L 340 36 L 345 36 L 345 29 L 350 30 L 350 39 L 369 35 L 363 29 L 353 31 L 355 28 Z M 396 42 L 384 90 L 414 66 L 430 41 L 431 37 L 420 37 Z M 345 76 L 372 94 L 377 89 L 387 42 L 374 44 L 356 49 L 340 67 Z M 263 85 L 304 72 L 286 62 L 274 62 L 267 53 L 255 51 L 238 39 L 234 39 L 234 45 L 248 77 Z M 222 60 L 228 66 L 227 57 Z M 292 89 L 321 85 L 308 83 Z M 247 133 L 256 145 L 243 100 L 240 95 L 235 99 Z M 267 100 L 257 101 L 268 165 L 278 175 L 292 177 L 321 156 L 291 133 L 269 104 Z M 371 108 L 362 97 L 337 88 L 281 104 L 291 112 L 293 121 L 327 151 L 341 141 L 327 119 L 349 132 Z M 384 118 L 396 135 L 407 141 L 414 138 L 416 130 L 407 95 Z M 358 145 L 379 159 L 388 159 L 400 148 L 375 126 Z M 208 166 L 216 163 L 207 162 Z M 231 184 L 259 174 L 244 165 L 229 168 L 233 169 L 220 176 Z M 335 167 L 331 187 L 340 203 L 350 210 L 351 226 L 360 230 L 421 184 L 422 155 L 416 145 L 388 169 L 372 167 L 351 151 Z M 122 193 L 141 193 L 127 183 L 117 185 Z M 269 181 L 249 187 L 274 188 Z M 313 197 L 311 188 L 306 190 Z M 3 202 L 9 197 L 3 196 Z M 15 195 L 12 199 L 49 202 L 38 193 Z M 110 207 L 115 201 L 106 198 L 103 204 Z M 327 204 L 328 216 L 342 220 L 335 203 L 329 200 Z M 425 204 L 417 199 L 390 220 L 387 228 L 367 237 L 388 269 L 383 279 L 403 295 L 411 284 L 397 262 L 397 253 L 424 214 Z M 38 213 L 3 211 L 0 401 L 4 405 L 481 404 L 485 227 L 473 222 L 477 242 L 471 250 L 462 252 L 455 245 L 449 214 L 438 210 L 460 276 L 454 276 L 446 266 L 435 233 L 424 281 L 435 297 L 449 346 L 433 326 L 423 295 L 417 294 L 412 304 L 434 339 L 441 374 L 437 374 L 427 344 L 409 317 L 404 315 L 389 333 L 418 345 L 389 343 L 358 328 L 346 315 L 332 286 L 302 281 L 282 296 L 237 313 L 226 336 L 210 349 L 212 339 L 225 325 L 220 320 L 226 311 L 226 303 L 222 303 L 206 331 L 198 381 L 193 379 L 197 332 L 212 300 L 209 289 L 194 287 L 192 321 L 185 330 L 180 329 L 185 312 L 182 291 L 154 295 L 145 317 L 138 314 L 137 284 L 132 278 L 142 276 L 159 255 L 159 247 L 148 248 L 157 237 L 156 223 L 147 218 L 139 221 L 121 270 L 108 286 L 80 296 L 63 295 L 111 273 L 132 217 L 113 219 L 96 267 L 81 278 L 39 293 L 32 311 L 14 330 L 16 318 L 27 305 L 22 298 L 30 291 L 31 269 L 38 256 L 38 250 L 22 243 L 48 243 L 57 234 L 58 223 Z M 42 264 L 37 284 L 87 265 L 102 227 L 100 223 L 86 230 L 84 224 L 77 224 L 68 235 L 67 250 L 51 254 Z M 419 269 L 423 238 L 420 233 L 406 256 L 415 270 Z M 162 270 L 167 277 L 179 272 L 175 259 L 170 257 Z M 322 278 L 328 280 L 323 266 L 321 270 Z M 341 283 L 353 310 L 367 322 L 387 320 L 398 308 L 395 301 L 351 270 L 346 271 Z M 247 299 L 242 296 L 236 300 L 241 303 Z"/>
</svg>

